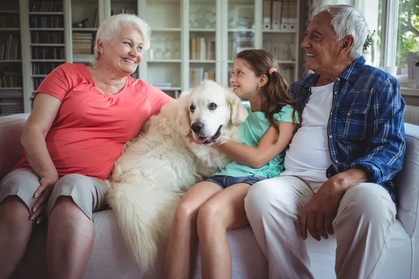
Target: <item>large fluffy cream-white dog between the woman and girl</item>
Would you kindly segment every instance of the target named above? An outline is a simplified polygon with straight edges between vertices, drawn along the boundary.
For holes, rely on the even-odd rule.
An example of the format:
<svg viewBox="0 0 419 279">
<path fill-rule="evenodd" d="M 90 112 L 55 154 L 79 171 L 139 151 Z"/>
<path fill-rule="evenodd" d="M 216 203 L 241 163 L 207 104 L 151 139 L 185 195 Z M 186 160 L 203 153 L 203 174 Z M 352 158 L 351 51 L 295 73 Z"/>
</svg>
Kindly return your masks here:
<svg viewBox="0 0 419 279">
<path fill-rule="evenodd" d="M 186 190 L 228 163 L 209 144 L 240 141 L 238 126 L 246 117 L 237 96 L 205 81 L 163 106 L 126 144 L 110 178 L 108 202 L 142 271 L 152 269 L 159 246 L 166 246 L 173 213 Z"/>
</svg>

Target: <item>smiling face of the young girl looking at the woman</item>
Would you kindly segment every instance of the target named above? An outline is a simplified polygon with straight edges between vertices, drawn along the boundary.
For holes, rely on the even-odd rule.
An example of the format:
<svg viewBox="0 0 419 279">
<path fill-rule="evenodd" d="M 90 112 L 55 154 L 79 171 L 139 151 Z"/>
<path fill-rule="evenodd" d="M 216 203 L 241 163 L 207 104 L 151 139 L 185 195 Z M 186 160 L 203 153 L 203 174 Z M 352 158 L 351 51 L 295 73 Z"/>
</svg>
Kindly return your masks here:
<svg viewBox="0 0 419 279">
<path fill-rule="evenodd" d="M 244 59 L 234 59 L 233 72 L 231 73 L 230 83 L 233 91 L 240 98 L 251 99 L 257 95 L 258 82 L 260 79 L 247 66 Z"/>
</svg>

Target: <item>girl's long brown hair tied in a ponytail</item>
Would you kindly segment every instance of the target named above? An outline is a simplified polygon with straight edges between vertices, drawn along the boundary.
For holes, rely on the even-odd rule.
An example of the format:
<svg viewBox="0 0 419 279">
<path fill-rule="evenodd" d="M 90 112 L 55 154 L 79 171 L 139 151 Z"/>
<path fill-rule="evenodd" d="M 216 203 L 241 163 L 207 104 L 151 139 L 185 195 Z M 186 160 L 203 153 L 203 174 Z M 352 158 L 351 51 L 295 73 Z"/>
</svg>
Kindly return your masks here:
<svg viewBox="0 0 419 279">
<path fill-rule="evenodd" d="M 301 123 L 301 113 L 295 100 L 288 95 L 288 82 L 279 71 L 269 74 L 270 68 L 278 69 L 277 59 L 266 50 L 243 50 L 236 55 L 236 58 L 243 59 L 256 77 L 267 76 L 267 83 L 263 86 L 265 87 L 265 95 L 260 110 L 265 113 L 266 118 L 274 126 L 277 131 L 277 138 L 279 137 L 279 128 L 277 121 L 274 119 L 274 114 L 281 112 L 285 105 L 293 107 L 293 121 L 297 123 L 295 119 L 295 112 L 297 112 Z"/>
</svg>

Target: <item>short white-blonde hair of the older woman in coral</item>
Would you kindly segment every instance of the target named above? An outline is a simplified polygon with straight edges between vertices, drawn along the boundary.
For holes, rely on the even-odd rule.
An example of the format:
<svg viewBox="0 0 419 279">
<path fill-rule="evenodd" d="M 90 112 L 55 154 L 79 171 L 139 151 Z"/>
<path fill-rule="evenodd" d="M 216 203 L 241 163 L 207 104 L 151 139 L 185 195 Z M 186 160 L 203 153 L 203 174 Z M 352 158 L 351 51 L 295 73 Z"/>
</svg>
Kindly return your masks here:
<svg viewBox="0 0 419 279">
<path fill-rule="evenodd" d="M 101 54 L 98 52 L 97 47 L 98 40 L 101 40 L 104 43 L 108 43 L 124 27 L 133 28 L 140 32 L 144 43 L 143 48 L 145 50 L 149 49 L 152 30 L 144 20 L 142 20 L 137 15 L 112 15 L 111 17 L 103 20 L 103 23 L 96 33 L 96 40 L 94 43 L 94 58 L 93 61 L 91 61 L 92 66 L 96 66 L 99 59 L 101 58 Z"/>
</svg>

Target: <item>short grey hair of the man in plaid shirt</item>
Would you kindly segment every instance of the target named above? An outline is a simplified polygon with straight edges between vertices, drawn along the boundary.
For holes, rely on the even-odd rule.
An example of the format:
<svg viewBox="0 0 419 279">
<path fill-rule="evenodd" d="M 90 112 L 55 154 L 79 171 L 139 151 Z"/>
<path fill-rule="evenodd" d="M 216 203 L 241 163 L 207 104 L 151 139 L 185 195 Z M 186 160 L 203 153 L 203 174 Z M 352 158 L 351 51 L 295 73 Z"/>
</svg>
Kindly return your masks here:
<svg viewBox="0 0 419 279">
<path fill-rule="evenodd" d="M 332 15 L 330 26 L 336 33 L 336 40 L 339 41 L 345 36 L 353 36 L 353 47 L 349 56 L 358 59 L 362 55 L 365 40 L 369 33 L 368 24 L 362 12 L 349 5 L 328 5 L 321 8 Z"/>
</svg>

